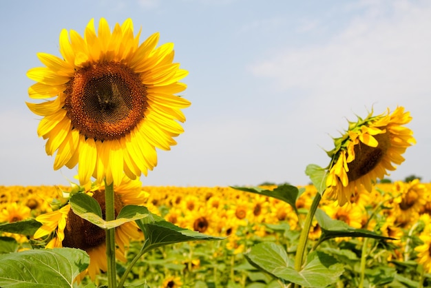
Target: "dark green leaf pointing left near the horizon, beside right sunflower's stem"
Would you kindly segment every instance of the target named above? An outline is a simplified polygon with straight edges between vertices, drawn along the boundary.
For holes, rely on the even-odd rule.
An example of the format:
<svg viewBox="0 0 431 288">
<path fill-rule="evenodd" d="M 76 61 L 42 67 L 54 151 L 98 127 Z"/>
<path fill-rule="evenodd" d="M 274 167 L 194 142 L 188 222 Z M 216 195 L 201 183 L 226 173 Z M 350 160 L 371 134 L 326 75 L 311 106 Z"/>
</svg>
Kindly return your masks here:
<svg viewBox="0 0 431 288">
<path fill-rule="evenodd" d="M 255 194 L 276 198 L 278 200 L 282 200 L 288 203 L 289 205 L 291 205 L 295 210 L 296 214 L 298 214 L 297 207 L 296 207 L 296 200 L 305 191 L 305 189 L 298 189 L 297 187 L 288 185 L 288 184 L 280 185 L 273 190 L 266 190 L 260 187 L 232 187 L 232 188 L 240 191 L 244 191 L 244 192 L 251 192 Z"/>
</svg>

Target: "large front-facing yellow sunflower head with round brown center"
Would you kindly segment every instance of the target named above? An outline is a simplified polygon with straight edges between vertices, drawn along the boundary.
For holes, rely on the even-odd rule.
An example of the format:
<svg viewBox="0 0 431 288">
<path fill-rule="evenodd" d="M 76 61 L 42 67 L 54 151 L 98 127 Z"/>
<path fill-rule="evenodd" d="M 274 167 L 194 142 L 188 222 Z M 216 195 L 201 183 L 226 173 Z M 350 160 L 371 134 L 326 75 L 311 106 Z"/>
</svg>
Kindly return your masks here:
<svg viewBox="0 0 431 288">
<path fill-rule="evenodd" d="M 119 183 L 123 172 L 132 179 L 157 165 L 156 148 L 169 150 L 183 132 L 182 108 L 190 102 L 176 96 L 187 75 L 173 63 L 174 44 L 156 48 L 159 34 L 139 44 L 131 19 L 111 32 L 105 19 L 98 31 L 91 20 L 84 37 L 62 30 L 61 58 L 37 56 L 45 67 L 32 68 L 29 88 L 32 112 L 43 116 L 37 133 L 48 139 L 48 155 L 56 152 L 54 169 L 78 165 L 81 185 L 94 176 L 98 183 Z"/>
</svg>

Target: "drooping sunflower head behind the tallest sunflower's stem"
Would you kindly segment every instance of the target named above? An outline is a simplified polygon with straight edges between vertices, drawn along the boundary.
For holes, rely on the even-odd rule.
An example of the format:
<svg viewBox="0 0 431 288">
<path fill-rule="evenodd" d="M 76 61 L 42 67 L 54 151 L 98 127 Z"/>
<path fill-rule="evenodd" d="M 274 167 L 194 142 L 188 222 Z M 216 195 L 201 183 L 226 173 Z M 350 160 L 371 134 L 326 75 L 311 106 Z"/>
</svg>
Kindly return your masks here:
<svg viewBox="0 0 431 288">
<path fill-rule="evenodd" d="M 142 183 L 136 180 L 123 178 L 120 185 L 114 185 L 115 192 L 115 213 L 125 205 L 143 205 L 148 198 L 147 192 L 142 190 Z M 101 205 L 102 211 L 105 209 L 105 187 L 96 185 L 86 192 Z M 36 220 L 43 225 L 36 231 L 34 238 L 49 236 L 49 243 L 46 248 L 72 247 L 83 249 L 90 256 L 89 267 L 81 273 L 78 279 L 86 274 L 94 280 L 100 271 L 107 271 L 105 230 L 84 220 L 74 214 L 70 209 L 70 204 L 66 204 L 61 209 L 42 214 Z M 117 245 L 116 258 L 126 261 L 125 249 L 129 246 L 131 239 L 139 240 L 143 234 L 139 232 L 136 223 L 128 222 L 115 228 L 115 243 Z"/>
</svg>

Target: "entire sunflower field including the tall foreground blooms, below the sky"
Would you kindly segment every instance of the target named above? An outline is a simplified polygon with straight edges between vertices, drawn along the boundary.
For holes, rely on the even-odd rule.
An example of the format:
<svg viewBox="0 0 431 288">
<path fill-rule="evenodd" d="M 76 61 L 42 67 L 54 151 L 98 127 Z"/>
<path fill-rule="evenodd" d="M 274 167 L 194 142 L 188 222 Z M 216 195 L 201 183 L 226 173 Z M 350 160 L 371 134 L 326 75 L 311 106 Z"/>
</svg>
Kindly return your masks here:
<svg viewBox="0 0 431 288">
<path fill-rule="evenodd" d="M 348 121 L 304 187 L 146 187 L 188 71 L 158 32 L 94 24 L 27 72 L 36 134 L 78 183 L 0 186 L 0 287 L 431 286 L 431 184 L 381 183 L 416 143 L 403 106 Z"/>
</svg>

